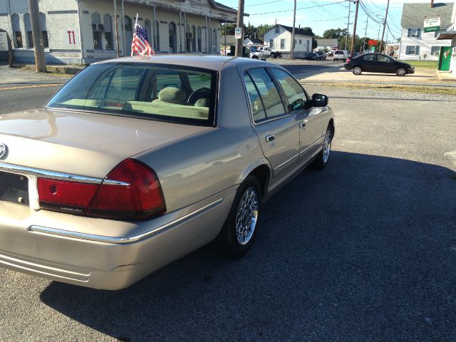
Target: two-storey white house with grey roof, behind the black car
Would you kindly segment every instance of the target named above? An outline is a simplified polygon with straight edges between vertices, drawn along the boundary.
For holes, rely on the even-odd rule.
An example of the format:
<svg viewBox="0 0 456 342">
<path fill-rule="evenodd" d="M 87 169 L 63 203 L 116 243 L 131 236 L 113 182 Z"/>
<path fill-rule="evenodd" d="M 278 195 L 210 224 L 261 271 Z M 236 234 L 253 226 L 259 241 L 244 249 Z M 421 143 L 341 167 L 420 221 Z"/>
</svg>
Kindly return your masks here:
<svg viewBox="0 0 456 342">
<path fill-rule="evenodd" d="M 408 3 L 403 4 L 400 48 L 398 59 L 418 60 L 426 54 L 426 61 L 437 61 L 440 46 L 449 46 L 437 41 L 438 32 L 424 32 L 424 20 L 440 18 L 440 31 L 451 25 L 453 3 Z"/>
</svg>

